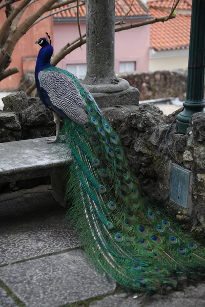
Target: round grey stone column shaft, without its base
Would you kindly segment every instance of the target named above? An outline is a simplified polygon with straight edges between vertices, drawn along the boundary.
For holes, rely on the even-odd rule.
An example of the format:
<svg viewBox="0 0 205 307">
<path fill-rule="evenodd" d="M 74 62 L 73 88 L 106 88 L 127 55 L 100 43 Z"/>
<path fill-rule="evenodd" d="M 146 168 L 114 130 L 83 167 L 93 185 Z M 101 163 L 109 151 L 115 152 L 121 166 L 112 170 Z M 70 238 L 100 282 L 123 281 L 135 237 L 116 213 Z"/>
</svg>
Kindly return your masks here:
<svg viewBox="0 0 205 307">
<path fill-rule="evenodd" d="M 115 84 L 115 0 L 87 0 L 87 75 L 92 85 Z"/>
</svg>

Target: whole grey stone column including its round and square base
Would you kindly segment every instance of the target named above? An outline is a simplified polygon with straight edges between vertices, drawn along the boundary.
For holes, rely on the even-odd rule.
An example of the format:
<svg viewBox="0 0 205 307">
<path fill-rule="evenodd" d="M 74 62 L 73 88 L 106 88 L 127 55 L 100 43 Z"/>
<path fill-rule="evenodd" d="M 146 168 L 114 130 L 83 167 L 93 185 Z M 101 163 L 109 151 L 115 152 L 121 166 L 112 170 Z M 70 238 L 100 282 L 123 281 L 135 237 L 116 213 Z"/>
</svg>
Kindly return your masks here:
<svg viewBox="0 0 205 307">
<path fill-rule="evenodd" d="M 139 91 L 114 72 L 115 0 L 87 0 L 87 75 L 84 79 L 99 107 L 137 104 Z"/>
</svg>

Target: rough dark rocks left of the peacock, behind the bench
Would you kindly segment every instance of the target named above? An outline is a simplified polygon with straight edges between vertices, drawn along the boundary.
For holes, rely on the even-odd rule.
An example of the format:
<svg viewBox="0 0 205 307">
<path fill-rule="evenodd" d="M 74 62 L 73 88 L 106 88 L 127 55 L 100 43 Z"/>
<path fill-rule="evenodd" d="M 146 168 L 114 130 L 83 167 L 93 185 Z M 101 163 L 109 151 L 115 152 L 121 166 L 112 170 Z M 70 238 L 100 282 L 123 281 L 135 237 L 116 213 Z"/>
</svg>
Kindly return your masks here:
<svg viewBox="0 0 205 307">
<path fill-rule="evenodd" d="M 3 98 L 0 143 L 55 135 L 53 114 L 38 98 L 20 91 Z"/>
</svg>

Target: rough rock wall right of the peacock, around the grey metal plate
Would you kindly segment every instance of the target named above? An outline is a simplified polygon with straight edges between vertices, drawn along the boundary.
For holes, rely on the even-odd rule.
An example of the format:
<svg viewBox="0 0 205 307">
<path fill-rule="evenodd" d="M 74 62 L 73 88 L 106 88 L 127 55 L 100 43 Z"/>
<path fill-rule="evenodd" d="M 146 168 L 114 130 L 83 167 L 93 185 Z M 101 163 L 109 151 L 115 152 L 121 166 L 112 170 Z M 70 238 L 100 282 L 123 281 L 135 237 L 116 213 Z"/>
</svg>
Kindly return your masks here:
<svg viewBox="0 0 205 307">
<path fill-rule="evenodd" d="M 103 113 L 117 131 L 142 189 L 156 203 L 174 210 L 182 227 L 192 226 L 200 233 L 205 230 L 205 114 L 192 117 L 187 135 L 178 134 L 176 124 L 168 135 L 174 157 L 192 171 L 188 209 L 169 201 L 173 161 L 165 135 L 180 111 L 166 117 L 153 104 L 144 104 L 133 110 L 107 108 Z"/>
</svg>

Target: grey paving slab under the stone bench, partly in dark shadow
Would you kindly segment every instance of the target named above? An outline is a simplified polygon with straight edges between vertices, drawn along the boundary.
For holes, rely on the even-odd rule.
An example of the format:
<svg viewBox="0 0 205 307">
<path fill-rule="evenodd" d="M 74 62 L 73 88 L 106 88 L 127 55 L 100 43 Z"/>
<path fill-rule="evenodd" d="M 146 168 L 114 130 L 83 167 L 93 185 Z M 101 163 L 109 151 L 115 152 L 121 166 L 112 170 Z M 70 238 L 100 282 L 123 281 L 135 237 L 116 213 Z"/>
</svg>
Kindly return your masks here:
<svg viewBox="0 0 205 307">
<path fill-rule="evenodd" d="M 51 190 L 0 202 L 0 265 L 78 247 L 65 213 Z"/>
</svg>

